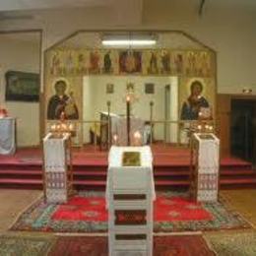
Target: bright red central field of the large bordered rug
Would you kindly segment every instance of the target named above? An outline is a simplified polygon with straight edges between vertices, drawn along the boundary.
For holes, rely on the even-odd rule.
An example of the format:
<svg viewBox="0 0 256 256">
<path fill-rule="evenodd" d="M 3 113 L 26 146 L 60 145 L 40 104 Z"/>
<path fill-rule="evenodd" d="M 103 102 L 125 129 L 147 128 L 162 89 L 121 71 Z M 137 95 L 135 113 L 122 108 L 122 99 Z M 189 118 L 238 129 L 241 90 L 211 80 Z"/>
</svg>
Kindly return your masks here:
<svg viewBox="0 0 256 256">
<path fill-rule="evenodd" d="M 201 204 L 181 197 L 160 196 L 154 204 L 156 222 L 211 221 L 213 217 Z M 73 197 L 60 205 L 52 215 L 55 221 L 107 222 L 105 200 L 102 197 Z"/>
</svg>

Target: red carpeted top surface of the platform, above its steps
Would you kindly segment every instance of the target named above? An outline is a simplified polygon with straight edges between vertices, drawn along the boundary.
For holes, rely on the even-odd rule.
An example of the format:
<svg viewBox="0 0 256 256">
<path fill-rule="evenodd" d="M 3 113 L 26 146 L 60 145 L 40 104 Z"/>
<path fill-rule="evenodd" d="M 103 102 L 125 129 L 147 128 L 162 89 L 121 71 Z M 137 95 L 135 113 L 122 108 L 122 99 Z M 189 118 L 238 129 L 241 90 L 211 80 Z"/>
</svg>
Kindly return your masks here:
<svg viewBox="0 0 256 256">
<path fill-rule="evenodd" d="M 153 145 L 152 151 L 154 162 L 156 165 L 187 165 L 189 164 L 190 150 L 188 148 L 177 148 L 172 146 Z M 93 164 L 107 165 L 107 152 L 96 150 L 93 146 L 86 146 L 83 149 L 73 150 L 73 160 L 75 165 Z M 25 163 L 38 164 L 42 162 L 42 152 L 39 148 L 28 148 L 18 150 L 14 156 L 0 155 L 0 163 Z M 247 165 L 248 162 L 233 157 L 225 157 L 222 159 L 223 165 L 236 164 Z"/>
</svg>

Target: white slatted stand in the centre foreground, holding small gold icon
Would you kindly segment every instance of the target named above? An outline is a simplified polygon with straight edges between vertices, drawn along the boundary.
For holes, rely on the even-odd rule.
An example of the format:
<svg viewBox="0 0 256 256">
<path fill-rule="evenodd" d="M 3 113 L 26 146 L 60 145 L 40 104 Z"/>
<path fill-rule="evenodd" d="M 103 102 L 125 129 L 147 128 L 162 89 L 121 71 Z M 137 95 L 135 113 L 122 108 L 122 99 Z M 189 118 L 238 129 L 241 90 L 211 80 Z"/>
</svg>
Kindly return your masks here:
<svg viewBox="0 0 256 256">
<path fill-rule="evenodd" d="M 122 166 L 124 152 L 140 152 L 140 166 Z M 156 199 L 150 147 L 112 147 L 108 158 L 106 205 L 109 255 L 153 255 Z"/>
</svg>

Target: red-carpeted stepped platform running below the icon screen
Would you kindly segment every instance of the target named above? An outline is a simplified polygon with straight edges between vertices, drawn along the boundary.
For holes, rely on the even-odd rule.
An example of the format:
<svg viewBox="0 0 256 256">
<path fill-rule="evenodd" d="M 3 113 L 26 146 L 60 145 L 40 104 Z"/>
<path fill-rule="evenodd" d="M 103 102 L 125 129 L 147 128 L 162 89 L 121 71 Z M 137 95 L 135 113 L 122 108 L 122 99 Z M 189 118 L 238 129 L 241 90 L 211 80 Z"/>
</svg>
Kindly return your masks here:
<svg viewBox="0 0 256 256">
<path fill-rule="evenodd" d="M 153 144 L 153 164 L 157 190 L 189 187 L 190 149 L 168 144 Z M 108 152 L 95 145 L 73 149 L 74 184 L 78 189 L 105 189 Z M 42 188 L 42 151 L 40 148 L 18 149 L 13 156 L 0 156 L 1 187 Z M 231 156 L 221 158 L 222 188 L 253 186 L 250 162 Z"/>
</svg>

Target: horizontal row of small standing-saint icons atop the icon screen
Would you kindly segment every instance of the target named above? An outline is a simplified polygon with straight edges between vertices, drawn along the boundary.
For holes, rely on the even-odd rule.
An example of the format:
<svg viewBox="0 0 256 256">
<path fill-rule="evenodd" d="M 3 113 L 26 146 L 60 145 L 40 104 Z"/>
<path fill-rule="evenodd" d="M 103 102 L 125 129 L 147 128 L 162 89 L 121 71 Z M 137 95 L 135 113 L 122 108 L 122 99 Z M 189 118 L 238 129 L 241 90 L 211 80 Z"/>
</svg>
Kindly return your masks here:
<svg viewBox="0 0 256 256">
<path fill-rule="evenodd" d="M 206 51 L 56 51 L 50 60 L 50 74 L 183 74 L 210 77 L 213 70 L 211 55 Z"/>
</svg>

